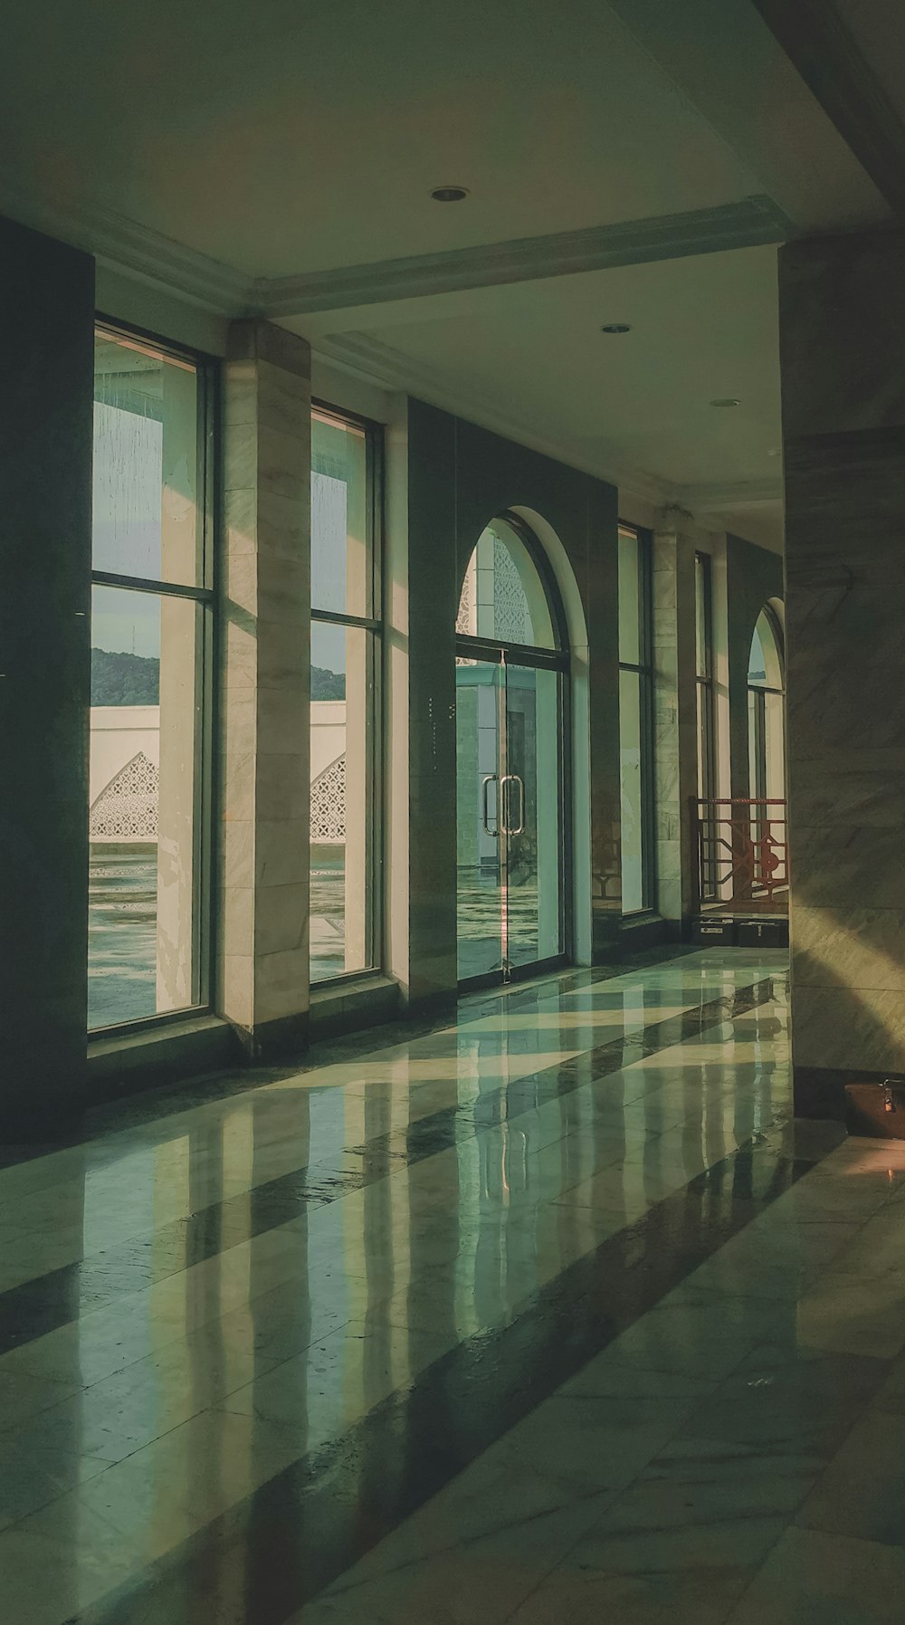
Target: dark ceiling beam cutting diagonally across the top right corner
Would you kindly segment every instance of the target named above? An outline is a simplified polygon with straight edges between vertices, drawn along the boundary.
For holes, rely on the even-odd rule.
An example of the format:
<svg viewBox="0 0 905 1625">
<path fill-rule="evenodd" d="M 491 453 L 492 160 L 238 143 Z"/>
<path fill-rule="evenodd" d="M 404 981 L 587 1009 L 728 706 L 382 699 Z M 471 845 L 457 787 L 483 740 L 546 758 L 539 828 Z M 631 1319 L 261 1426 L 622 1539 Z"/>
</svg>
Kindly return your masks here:
<svg viewBox="0 0 905 1625">
<path fill-rule="evenodd" d="M 905 124 L 835 6 L 827 0 L 754 5 L 876 188 L 905 214 Z"/>
</svg>

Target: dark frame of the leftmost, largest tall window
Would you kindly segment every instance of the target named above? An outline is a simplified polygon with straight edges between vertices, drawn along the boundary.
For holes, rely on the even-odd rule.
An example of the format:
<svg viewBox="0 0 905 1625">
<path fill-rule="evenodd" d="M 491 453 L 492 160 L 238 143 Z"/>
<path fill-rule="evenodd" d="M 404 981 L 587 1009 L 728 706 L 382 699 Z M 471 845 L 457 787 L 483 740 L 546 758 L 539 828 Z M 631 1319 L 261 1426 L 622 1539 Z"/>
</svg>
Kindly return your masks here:
<svg viewBox="0 0 905 1625">
<path fill-rule="evenodd" d="M 216 356 L 195 349 L 192 344 L 179 344 L 149 328 L 133 327 L 107 315 L 104 310 L 94 312 L 94 336 L 136 341 L 136 344 L 154 349 L 164 359 L 188 362 L 195 372 L 197 390 L 197 468 L 198 494 L 201 502 L 200 535 L 201 535 L 201 567 L 198 582 L 190 587 L 177 582 L 162 582 L 153 577 L 127 575 L 119 570 L 97 570 L 91 564 L 91 600 L 94 587 L 107 587 L 114 592 L 149 593 L 159 598 L 182 598 L 193 601 L 198 609 L 198 648 L 195 653 L 195 696 L 200 725 L 195 731 L 195 796 L 192 816 L 192 845 L 195 882 L 195 907 L 192 910 L 192 980 L 197 999 L 174 1011 L 156 1011 L 149 1016 L 110 1022 L 91 1027 L 86 1019 L 88 1043 L 97 1038 L 117 1037 L 119 1034 L 140 1034 L 158 1030 L 174 1022 L 182 1022 L 192 1016 L 205 1016 L 213 1011 L 213 977 L 216 956 L 216 897 L 214 897 L 214 827 L 218 819 L 216 790 L 216 751 L 214 739 L 219 722 L 219 535 L 221 535 L 221 494 L 218 491 L 216 473 L 219 468 L 223 445 L 223 411 L 221 411 L 221 377 L 223 369 Z M 91 712 L 91 705 L 89 705 Z M 88 852 L 91 858 L 91 847 Z"/>
</svg>

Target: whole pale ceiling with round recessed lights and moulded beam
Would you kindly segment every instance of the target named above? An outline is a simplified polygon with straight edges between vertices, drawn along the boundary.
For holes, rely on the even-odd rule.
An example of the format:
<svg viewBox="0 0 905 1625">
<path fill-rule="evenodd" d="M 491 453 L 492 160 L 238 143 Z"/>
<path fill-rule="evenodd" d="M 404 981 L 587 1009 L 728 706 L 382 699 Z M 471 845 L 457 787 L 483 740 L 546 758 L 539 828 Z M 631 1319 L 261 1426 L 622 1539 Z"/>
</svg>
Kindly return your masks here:
<svg viewBox="0 0 905 1625">
<path fill-rule="evenodd" d="M 775 541 L 777 245 L 890 208 L 769 11 L 6 0 L 0 210 Z"/>
</svg>

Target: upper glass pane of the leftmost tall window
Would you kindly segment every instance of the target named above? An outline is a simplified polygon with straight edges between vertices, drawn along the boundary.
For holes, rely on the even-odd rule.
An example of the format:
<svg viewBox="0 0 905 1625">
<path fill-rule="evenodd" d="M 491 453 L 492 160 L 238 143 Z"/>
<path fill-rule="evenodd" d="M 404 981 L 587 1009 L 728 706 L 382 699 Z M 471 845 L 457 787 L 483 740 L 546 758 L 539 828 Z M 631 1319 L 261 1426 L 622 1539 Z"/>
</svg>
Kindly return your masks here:
<svg viewBox="0 0 905 1625">
<path fill-rule="evenodd" d="M 203 570 L 195 367 L 107 333 L 94 338 L 93 562 L 179 587 Z"/>
</svg>

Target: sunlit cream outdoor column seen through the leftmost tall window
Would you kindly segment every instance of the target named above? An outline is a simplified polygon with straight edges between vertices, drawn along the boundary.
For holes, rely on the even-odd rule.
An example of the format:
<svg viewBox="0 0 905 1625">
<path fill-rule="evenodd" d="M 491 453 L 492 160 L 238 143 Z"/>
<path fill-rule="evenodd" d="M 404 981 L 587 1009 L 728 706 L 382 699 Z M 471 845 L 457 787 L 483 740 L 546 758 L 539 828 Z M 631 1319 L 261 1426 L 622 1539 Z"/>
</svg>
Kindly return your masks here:
<svg viewBox="0 0 905 1625">
<path fill-rule="evenodd" d="M 161 577 L 197 580 L 197 374 L 162 367 Z M 158 796 L 158 1011 L 195 1003 L 195 741 L 200 715 L 197 614 L 161 598 L 161 734 Z"/>
</svg>

